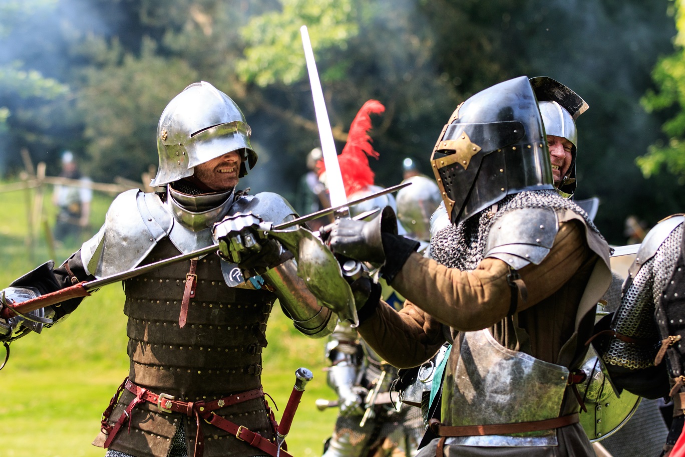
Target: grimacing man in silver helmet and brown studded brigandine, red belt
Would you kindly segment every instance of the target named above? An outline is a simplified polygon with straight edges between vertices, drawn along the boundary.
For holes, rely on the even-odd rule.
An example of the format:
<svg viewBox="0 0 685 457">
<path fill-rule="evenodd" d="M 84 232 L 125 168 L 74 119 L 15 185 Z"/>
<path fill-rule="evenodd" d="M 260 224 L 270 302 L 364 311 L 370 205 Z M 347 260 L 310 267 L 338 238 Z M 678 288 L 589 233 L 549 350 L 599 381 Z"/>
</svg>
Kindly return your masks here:
<svg viewBox="0 0 685 457">
<path fill-rule="evenodd" d="M 94 442 L 108 457 L 275 456 L 276 424 L 260 378 L 273 303 L 278 298 L 312 338 L 329 335 L 338 321 L 297 277 L 293 254 L 256 235 L 256 224 L 296 215 L 279 195 L 236 189 L 257 162 L 250 135 L 232 99 L 207 82 L 191 84 L 158 125 L 152 185 L 163 190 L 119 195 L 101 230 L 61 267 L 48 262 L 5 289 L 5 297 L 45 294 L 188 254 L 213 245 L 214 230 L 223 257 L 208 254 L 124 281 L 129 376 Z M 240 252 L 234 262 L 225 258 L 227 243 Z M 42 314 L 58 321 L 77 305 Z M 23 327 L 10 319 L 0 330 L 8 339 Z"/>
</svg>

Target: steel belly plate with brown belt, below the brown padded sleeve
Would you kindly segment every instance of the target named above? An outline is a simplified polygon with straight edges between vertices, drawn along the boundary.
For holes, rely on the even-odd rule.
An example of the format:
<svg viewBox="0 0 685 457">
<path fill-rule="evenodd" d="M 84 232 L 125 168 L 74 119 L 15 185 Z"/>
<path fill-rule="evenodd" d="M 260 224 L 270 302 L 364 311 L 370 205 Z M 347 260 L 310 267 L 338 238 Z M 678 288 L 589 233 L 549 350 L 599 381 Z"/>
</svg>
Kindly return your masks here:
<svg viewBox="0 0 685 457">
<path fill-rule="evenodd" d="M 456 343 L 457 344 L 457 343 Z M 462 332 L 451 351 L 443 384 L 443 422 L 486 425 L 559 417 L 569 370 L 503 347 L 489 330 Z M 550 446 L 556 430 L 510 435 L 458 436 L 466 446 Z"/>
</svg>

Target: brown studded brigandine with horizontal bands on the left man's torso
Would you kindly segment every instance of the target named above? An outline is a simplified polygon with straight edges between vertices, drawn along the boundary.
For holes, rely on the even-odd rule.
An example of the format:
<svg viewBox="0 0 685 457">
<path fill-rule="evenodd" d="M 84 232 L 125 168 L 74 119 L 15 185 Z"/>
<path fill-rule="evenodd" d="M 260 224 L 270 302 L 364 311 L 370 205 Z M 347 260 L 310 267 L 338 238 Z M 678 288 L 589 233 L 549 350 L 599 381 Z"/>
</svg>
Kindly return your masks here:
<svg viewBox="0 0 685 457">
<path fill-rule="evenodd" d="M 179 254 L 169 238 L 155 246 L 142 264 Z M 262 290 L 231 288 L 221 274 L 215 254 L 197 263 L 197 291 L 188 307 L 188 323 L 178 319 L 190 260 L 171 264 L 124 282 L 128 317 L 129 378 L 153 393 L 166 393 L 185 402 L 211 401 L 261 385 L 262 348 L 266 321 L 275 295 Z M 134 395 L 124 390 L 110 415 L 119 419 Z M 216 414 L 273 439 L 262 398 L 225 406 Z M 142 403 L 134 408 L 110 445 L 136 457 L 166 456 L 177 427 L 184 426 L 192 456 L 195 417 L 160 412 Z M 204 457 L 264 454 L 235 436 L 201 421 Z M 100 433 L 93 444 L 102 446 Z"/>
</svg>

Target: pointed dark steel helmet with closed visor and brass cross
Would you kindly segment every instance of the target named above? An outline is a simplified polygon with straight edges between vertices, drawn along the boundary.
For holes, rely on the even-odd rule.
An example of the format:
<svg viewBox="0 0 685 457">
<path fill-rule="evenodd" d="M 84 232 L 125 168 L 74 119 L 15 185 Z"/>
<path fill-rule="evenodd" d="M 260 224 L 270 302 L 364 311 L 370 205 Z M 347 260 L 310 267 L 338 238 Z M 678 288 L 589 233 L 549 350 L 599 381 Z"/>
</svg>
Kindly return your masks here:
<svg viewBox="0 0 685 457">
<path fill-rule="evenodd" d="M 431 156 L 449 220 L 458 224 L 506 195 L 553 189 L 547 139 L 525 76 L 466 99 Z"/>
</svg>

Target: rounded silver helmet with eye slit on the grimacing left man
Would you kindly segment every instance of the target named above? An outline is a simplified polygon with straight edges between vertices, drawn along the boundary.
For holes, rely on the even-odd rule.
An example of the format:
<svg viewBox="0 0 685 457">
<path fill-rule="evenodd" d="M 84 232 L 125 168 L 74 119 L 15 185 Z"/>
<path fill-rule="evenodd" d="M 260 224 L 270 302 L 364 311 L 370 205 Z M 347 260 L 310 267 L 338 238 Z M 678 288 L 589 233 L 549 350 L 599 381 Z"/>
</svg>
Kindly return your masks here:
<svg viewBox="0 0 685 457">
<path fill-rule="evenodd" d="M 225 153 L 242 156 L 239 176 L 257 162 L 251 129 L 238 105 L 208 82 L 190 84 L 164 108 L 157 127 L 160 166 L 152 186 L 190 177 L 195 166 Z"/>
</svg>

